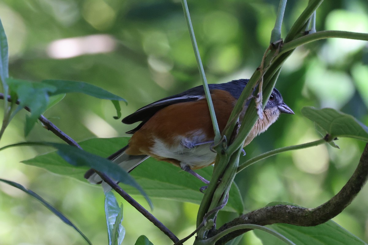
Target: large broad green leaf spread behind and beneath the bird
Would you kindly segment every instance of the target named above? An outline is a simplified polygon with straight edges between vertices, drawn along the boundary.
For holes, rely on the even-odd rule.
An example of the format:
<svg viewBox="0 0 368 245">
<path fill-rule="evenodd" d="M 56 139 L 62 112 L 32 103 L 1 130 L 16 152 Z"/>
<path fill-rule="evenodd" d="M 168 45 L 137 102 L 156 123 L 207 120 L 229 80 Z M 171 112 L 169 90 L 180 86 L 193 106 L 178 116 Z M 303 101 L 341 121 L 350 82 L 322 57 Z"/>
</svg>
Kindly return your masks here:
<svg viewBox="0 0 368 245">
<path fill-rule="evenodd" d="M 80 145 L 85 151 L 106 158 L 127 145 L 128 140 L 128 137 L 94 138 L 82 141 Z M 36 156 L 33 159 L 23 161 L 23 163 L 43 167 L 53 173 L 86 181 L 83 178 L 86 168 L 68 165 L 56 152 Z M 212 171 L 212 166 L 196 170 L 197 173 L 208 180 L 212 176 Z M 170 163 L 149 158 L 130 174 L 151 198 L 166 198 L 196 204 L 200 204 L 202 201 L 203 193 L 199 191 L 199 188 L 204 184 L 191 174 Z M 131 195 L 139 195 L 137 190 L 128 185 L 124 185 L 123 188 Z M 229 195 L 229 201 L 223 210 L 242 213 L 244 210 L 243 198 L 236 184 L 231 186 Z"/>
</svg>

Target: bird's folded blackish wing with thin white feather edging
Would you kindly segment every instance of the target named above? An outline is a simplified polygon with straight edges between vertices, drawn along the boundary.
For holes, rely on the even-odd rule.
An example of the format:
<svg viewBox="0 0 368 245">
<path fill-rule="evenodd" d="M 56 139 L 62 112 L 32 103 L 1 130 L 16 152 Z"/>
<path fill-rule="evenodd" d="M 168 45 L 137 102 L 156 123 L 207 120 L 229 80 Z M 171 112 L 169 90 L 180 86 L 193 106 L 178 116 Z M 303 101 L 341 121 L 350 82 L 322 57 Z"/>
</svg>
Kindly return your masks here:
<svg viewBox="0 0 368 245">
<path fill-rule="evenodd" d="M 221 83 L 221 84 L 209 84 L 209 89 L 222 89 L 227 90 L 231 93 L 235 98 L 238 98 L 240 93 L 243 91 L 245 85 L 247 84 L 248 79 L 239 79 L 233 80 L 228 83 Z M 132 124 L 135 122 L 142 121 L 135 129 L 132 129 L 127 132 L 127 134 L 134 134 L 138 131 L 156 112 L 160 109 L 167 107 L 172 104 L 183 103 L 183 102 L 191 102 L 191 101 L 198 101 L 203 100 L 205 98 L 205 92 L 203 86 L 197 86 L 183 93 L 176 94 L 174 96 L 169 96 L 153 102 L 152 104 L 146 105 L 138 109 L 133 114 L 125 117 L 122 122 L 125 124 Z"/>
</svg>

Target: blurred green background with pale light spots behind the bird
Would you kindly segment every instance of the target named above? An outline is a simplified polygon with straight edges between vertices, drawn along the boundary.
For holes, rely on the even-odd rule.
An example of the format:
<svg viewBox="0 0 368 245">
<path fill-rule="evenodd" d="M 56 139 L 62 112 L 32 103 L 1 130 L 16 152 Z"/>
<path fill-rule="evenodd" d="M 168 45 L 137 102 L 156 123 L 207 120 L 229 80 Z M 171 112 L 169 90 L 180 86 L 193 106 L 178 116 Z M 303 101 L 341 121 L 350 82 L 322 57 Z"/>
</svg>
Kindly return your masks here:
<svg viewBox="0 0 368 245">
<path fill-rule="evenodd" d="M 283 32 L 307 0 L 287 3 Z M 268 47 L 276 17 L 275 0 L 201 0 L 188 2 L 209 83 L 250 78 Z M 10 75 L 18 79 L 79 80 L 125 98 L 123 116 L 165 96 L 201 84 L 179 0 L 2 0 L 0 18 L 10 48 Z M 317 30 L 368 32 L 368 2 L 324 1 Z M 332 107 L 368 124 L 368 46 L 356 40 L 321 40 L 298 48 L 283 66 L 276 84 L 296 115 L 282 115 L 245 148 L 249 159 L 262 152 L 315 140 L 313 123 L 300 109 Z M 2 109 L 2 107 L 0 107 Z M 1 112 L 2 113 L 2 112 Z M 57 141 L 37 125 L 24 138 L 26 112 L 8 126 L 0 146 L 19 141 Z M 68 94 L 45 113 L 77 141 L 123 136 L 131 125 L 114 120 L 110 101 Z M 236 182 L 247 210 L 273 201 L 312 208 L 346 183 L 364 143 L 339 139 L 329 145 L 284 153 L 238 174 Z M 93 244 L 107 244 L 100 188 L 57 176 L 20 161 L 45 148 L 10 148 L 0 152 L 0 178 L 17 181 L 67 215 Z M 137 197 L 145 206 L 141 197 Z M 123 199 L 123 244 L 146 235 L 153 244 L 170 244 L 155 226 Z M 179 238 L 195 229 L 198 205 L 154 199 L 157 216 Z M 334 220 L 368 241 L 368 188 Z M 219 223 L 234 214 L 222 212 Z M 186 244 L 191 244 L 190 240 Z M 0 244 L 84 244 L 82 238 L 49 210 L 21 191 L 0 184 Z M 241 244 L 260 244 L 247 233 Z"/>
</svg>

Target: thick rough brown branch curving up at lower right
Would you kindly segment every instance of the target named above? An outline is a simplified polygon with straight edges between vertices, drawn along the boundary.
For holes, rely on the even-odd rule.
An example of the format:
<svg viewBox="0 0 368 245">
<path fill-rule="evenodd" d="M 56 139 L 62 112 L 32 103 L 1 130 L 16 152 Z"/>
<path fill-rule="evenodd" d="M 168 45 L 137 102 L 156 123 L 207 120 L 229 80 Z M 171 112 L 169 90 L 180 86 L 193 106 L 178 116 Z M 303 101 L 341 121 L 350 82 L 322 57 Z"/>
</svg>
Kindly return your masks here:
<svg viewBox="0 0 368 245">
<path fill-rule="evenodd" d="M 359 164 L 353 175 L 339 193 L 329 201 L 323 203 L 321 206 L 312 209 L 292 205 L 276 205 L 261 208 L 237 217 L 229 223 L 224 224 L 216 230 L 215 233 L 211 234 L 211 237 L 238 224 L 258 224 L 265 226 L 268 224 L 284 223 L 296 226 L 316 226 L 325 223 L 341 213 L 353 201 L 361 188 L 367 182 L 367 179 L 368 143 L 365 145 Z M 216 245 L 226 244 L 226 242 L 247 231 L 250 231 L 250 229 L 243 229 L 229 233 L 217 241 Z"/>
</svg>

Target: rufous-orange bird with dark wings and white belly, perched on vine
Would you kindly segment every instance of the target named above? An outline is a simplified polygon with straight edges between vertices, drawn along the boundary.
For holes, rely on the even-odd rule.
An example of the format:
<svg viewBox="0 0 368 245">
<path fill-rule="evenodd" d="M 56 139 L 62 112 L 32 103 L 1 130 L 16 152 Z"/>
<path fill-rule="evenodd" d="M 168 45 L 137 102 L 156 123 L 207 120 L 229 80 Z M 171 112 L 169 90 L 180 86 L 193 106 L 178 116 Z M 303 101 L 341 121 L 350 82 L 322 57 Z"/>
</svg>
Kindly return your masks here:
<svg viewBox="0 0 368 245">
<path fill-rule="evenodd" d="M 209 84 L 220 132 L 226 126 L 247 82 L 248 79 L 239 79 Z M 247 106 L 248 103 L 244 111 Z M 266 131 L 281 113 L 294 114 L 284 103 L 279 91 L 273 89 L 263 110 L 263 119 L 257 120 L 245 139 L 244 146 Z M 207 180 L 193 171 L 211 165 L 216 158 L 216 153 L 211 151 L 215 135 L 203 86 L 146 105 L 125 117 L 122 122 L 141 123 L 127 132 L 133 134 L 128 145 L 108 159 L 130 172 L 152 156 L 160 161 L 173 163 L 208 184 Z M 84 177 L 93 184 L 102 181 L 92 169 Z"/>
</svg>

